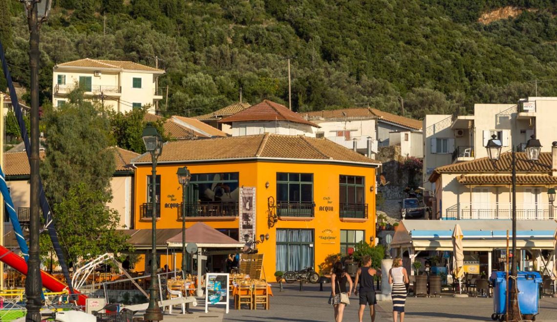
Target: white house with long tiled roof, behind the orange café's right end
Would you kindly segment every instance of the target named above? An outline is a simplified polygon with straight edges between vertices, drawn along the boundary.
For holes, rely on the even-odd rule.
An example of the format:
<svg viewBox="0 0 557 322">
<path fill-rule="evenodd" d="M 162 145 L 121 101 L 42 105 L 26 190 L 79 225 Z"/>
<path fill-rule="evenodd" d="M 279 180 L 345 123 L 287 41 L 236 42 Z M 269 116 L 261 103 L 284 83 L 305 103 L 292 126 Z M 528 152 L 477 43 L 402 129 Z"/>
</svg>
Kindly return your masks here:
<svg viewBox="0 0 557 322">
<path fill-rule="evenodd" d="M 411 118 L 383 112 L 376 108 L 345 108 L 301 113 L 321 128 L 315 133 L 344 147 L 371 155 L 379 146 L 399 145 L 401 155 L 422 157 L 422 123 Z"/>
</svg>

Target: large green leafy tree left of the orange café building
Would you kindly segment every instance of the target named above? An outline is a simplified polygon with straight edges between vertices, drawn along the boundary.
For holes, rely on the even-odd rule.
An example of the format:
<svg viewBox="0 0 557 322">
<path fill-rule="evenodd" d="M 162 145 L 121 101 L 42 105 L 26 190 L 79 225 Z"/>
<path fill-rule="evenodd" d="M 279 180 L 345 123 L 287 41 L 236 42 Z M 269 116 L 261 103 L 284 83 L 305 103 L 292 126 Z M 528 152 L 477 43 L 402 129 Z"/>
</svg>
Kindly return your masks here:
<svg viewBox="0 0 557 322">
<path fill-rule="evenodd" d="M 48 152 L 41 176 L 69 258 L 87 260 L 124 249 L 126 237 L 115 230 L 118 212 L 106 207 L 115 171 L 106 111 L 74 91 L 69 103 L 47 108 L 43 121 Z"/>
</svg>

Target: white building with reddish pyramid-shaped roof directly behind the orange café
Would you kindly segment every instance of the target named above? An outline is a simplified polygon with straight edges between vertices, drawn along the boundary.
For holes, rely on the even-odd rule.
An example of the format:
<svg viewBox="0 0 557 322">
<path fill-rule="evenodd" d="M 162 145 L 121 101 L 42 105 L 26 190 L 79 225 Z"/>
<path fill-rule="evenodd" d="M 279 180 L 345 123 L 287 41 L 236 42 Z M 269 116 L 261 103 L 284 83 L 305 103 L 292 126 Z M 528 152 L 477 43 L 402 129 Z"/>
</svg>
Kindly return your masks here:
<svg viewBox="0 0 557 322">
<path fill-rule="evenodd" d="M 218 123 L 231 125 L 232 136 L 276 133 L 315 137 L 319 125 L 305 120 L 284 105 L 264 100 Z"/>
</svg>

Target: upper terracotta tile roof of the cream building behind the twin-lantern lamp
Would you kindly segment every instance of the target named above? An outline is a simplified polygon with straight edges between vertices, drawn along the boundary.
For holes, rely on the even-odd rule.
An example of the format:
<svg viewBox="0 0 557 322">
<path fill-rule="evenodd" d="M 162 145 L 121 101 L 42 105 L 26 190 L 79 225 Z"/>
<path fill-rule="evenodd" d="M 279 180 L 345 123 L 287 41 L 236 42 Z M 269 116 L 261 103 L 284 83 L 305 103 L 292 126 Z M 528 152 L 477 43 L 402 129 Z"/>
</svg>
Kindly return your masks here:
<svg viewBox="0 0 557 322">
<path fill-rule="evenodd" d="M 498 161 L 492 162 L 488 157 L 472 161 L 437 167 L 430 182 L 435 182 L 441 174 L 496 174 L 511 172 L 512 153 L 501 153 Z M 528 160 L 525 152 L 516 152 L 516 172 L 548 174 L 552 171 L 551 152 L 541 152 L 538 161 Z"/>
</svg>

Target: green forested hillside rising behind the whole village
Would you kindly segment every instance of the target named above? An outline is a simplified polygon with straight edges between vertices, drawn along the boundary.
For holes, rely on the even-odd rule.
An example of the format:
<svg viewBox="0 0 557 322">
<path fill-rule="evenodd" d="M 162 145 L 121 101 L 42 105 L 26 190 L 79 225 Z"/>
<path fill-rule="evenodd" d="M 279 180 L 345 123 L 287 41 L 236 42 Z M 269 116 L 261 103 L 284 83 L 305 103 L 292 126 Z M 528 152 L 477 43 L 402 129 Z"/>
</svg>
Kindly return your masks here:
<svg viewBox="0 0 557 322">
<path fill-rule="evenodd" d="M 407 116 L 557 96 L 556 1 L 55 0 L 41 29 L 43 99 L 52 66 L 79 58 L 167 70 L 168 107 L 197 115 L 238 100 L 288 100 L 297 111 L 372 106 Z M 477 22 L 513 6 L 514 18 Z M 28 83 L 27 26 L 0 2 L 12 75 Z"/>
</svg>

